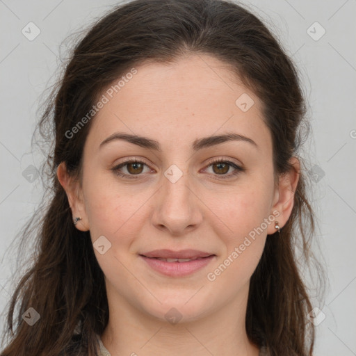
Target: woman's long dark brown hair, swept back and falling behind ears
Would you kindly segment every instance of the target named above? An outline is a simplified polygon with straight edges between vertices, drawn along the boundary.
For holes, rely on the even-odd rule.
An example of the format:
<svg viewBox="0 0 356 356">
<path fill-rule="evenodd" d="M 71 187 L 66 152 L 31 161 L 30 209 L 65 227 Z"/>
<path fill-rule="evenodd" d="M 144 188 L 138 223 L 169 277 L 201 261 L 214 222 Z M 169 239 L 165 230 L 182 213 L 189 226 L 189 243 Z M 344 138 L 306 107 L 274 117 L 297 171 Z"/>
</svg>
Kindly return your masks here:
<svg viewBox="0 0 356 356">
<path fill-rule="evenodd" d="M 222 60 L 257 94 L 273 138 L 275 173 L 291 169 L 289 159 L 305 137 L 306 104 L 296 67 L 258 17 L 222 0 L 135 0 L 114 8 L 76 44 L 38 126 L 45 139 L 55 137 L 44 165 L 49 194 L 22 234 L 23 241 L 34 236 L 35 252 L 10 300 L 2 356 L 97 355 L 95 334 L 108 323 L 104 274 L 90 233 L 73 225 L 56 168 L 65 162 L 71 175 L 80 175 L 95 118 L 73 137 L 68 131 L 104 88 L 132 67 L 190 53 Z M 300 261 L 309 264 L 313 257 L 314 215 L 305 178 L 302 169 L 291 216 L 280 234 L 267 237 L 250 280 L 246 331 L 273 356 L 309 356 L 314 347 L 314 325 L 307 319 L 312 303 L 299 270 Z M 40 315 L 33 326 L 22 318 L 29 307 Z"/>
</svg>

